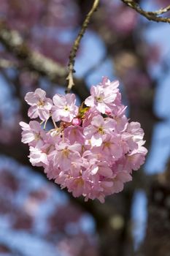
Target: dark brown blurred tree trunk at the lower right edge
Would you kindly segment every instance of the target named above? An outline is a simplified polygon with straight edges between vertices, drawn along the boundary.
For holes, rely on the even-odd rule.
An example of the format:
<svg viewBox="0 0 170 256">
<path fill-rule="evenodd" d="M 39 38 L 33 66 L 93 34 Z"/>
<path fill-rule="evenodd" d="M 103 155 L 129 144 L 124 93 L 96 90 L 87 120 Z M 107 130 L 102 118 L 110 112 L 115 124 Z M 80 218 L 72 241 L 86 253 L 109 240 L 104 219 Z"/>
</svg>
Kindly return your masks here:
<svg viewBox="0 0 170 256">
<path fill-rule="evenodd" d="M 139 255 L 170 255 L 170 162 L 154 177 L 148 195 L 147 233 Z"/>
</svg>

